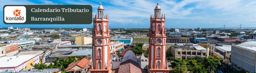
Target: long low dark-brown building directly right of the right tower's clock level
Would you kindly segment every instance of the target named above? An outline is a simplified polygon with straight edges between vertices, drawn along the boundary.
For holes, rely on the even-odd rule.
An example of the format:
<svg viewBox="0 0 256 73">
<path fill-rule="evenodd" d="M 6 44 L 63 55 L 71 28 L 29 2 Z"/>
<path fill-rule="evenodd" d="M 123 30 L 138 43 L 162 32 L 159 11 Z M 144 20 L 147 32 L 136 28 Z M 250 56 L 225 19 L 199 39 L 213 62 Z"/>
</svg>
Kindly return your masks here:
<svg viewBox="0 0 256 73">
<path fill-rule="evenodd" d="M 189 38 L 167 38 L 166 43 L 189 43 Z"/>
</svg>

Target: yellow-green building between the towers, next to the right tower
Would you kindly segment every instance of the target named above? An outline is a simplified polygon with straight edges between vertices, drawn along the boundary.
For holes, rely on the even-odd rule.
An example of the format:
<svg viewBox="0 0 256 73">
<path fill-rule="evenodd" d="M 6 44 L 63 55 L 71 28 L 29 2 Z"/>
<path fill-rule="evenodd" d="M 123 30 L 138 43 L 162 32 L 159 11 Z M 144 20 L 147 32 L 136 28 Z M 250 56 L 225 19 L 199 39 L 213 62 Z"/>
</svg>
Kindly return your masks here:
<svg viewBox="0 0 256 73">
<path fill-rule="evenodd" d="M 138 44 L 148 44 L 148 37 L 133 37 L 133 46 Z"/>
</svg>

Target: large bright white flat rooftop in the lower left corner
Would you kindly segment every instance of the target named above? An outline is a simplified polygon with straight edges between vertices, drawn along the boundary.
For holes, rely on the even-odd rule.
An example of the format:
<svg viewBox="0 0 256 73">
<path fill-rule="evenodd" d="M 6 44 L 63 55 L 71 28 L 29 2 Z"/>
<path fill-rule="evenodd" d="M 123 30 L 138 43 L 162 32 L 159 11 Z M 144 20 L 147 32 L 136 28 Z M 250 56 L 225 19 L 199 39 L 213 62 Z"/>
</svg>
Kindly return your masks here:
<svg viewBox="0 0 256 73">
<path fill-rule="evenodd" d="M 30 54 L 30 55 L 19 55 L 18 58 L 17 56 L 10 56 L 10 57 L 4 57 L 0 58 L 0 68 L 3 67 L 17 67 L 20 64 L 36 57 L 38 54 Z M 10 60 L 10 58 L 12 58 Z M 7 61 L 9 60 L 9 61 Z"/>
</svg>

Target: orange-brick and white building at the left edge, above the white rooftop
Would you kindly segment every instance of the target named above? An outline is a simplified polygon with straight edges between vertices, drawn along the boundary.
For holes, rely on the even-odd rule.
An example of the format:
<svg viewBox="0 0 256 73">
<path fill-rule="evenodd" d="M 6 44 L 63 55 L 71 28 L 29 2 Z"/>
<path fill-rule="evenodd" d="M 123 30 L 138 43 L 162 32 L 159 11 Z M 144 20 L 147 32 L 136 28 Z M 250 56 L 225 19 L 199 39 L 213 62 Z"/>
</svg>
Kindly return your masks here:
<svg viewBox="0 0 256 73">
<path fill-rule="evenodd" d="M 18 44 L 0 44 L 0 58 L 14 56 L 18 52 Z"/>
</svg>

